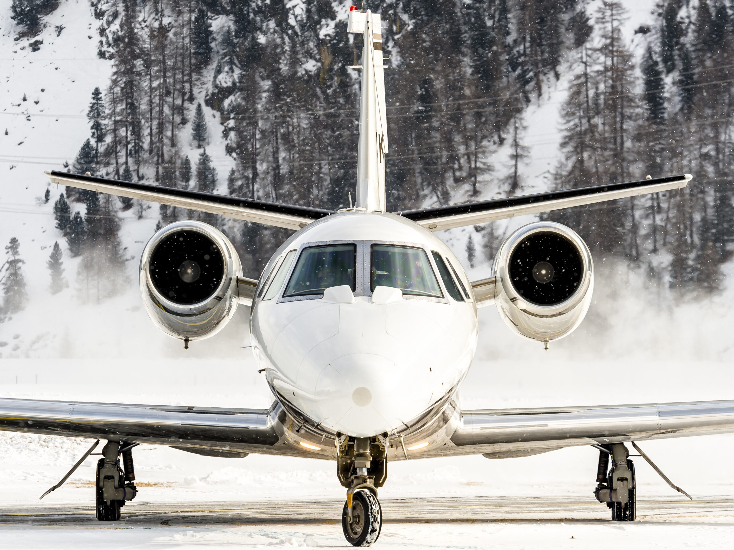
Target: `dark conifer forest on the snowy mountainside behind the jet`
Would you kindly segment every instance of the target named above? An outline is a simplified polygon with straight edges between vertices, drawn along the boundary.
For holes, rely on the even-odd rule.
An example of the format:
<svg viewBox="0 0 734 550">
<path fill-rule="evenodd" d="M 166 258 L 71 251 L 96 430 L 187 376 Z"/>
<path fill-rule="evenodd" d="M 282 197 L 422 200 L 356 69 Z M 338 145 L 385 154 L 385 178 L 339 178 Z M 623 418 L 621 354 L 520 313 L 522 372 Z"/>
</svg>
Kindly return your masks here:
<svg viewBox="0 0 734 550">
<path fill-rule="evenodd" d="M 26 48 L 24 59 L 48 56 L 64 41 L 63 24 L 54 25 L 53 45 L 37 38 L 63 4 L 12 0 L 4 34 Z M 682 192 L 548 218 L 679 294 L 721 290 L 734 241 L 734 82 L 727 78 L 734 12 L 723 1 L 647 4 L 647 13 L 634 14 L 644 21 L 637 26 L 619 1 L 366 4 L 388 27 L 390 210 L 690 172 Z M 162 186 L 344 206 L 355 186 L 359 100 L 359 74 L 349 65 L 361 51 L 360 37 L 344 33 L 348 5 L 77 4 L 76 12 L 92 15 L 89 32 L 106 74 L 84 90 L 87 136 L 64 164 Z M 73 98 L 77 110 L 81 99 Z M 18 103 L 8 107 L 40 110 L 27 98 Z M 548 117 L 539 107 L 556 112 Z M 15 137 L 4 140 L 10 165 L 28 160 L 11 153 Z M 551 143 L 545 149 L 553 156 L 542 159 L 550 162 L 539 162 L 534 150 Z M 84 257 L 85 279 L 120 265 L 120 215 L 162 225 L 198 216 L 71 189 L 65 195 L 69 212 L 57 216 L 57 238 L 70 257 Z M 236 243 L 250 276 L 287 235 L 212 221 Z M 486 262 L 503 231 L 476 232 L 473 246 Z M 100 297 L 126 284 L 109 283 Z"/>
</svg>

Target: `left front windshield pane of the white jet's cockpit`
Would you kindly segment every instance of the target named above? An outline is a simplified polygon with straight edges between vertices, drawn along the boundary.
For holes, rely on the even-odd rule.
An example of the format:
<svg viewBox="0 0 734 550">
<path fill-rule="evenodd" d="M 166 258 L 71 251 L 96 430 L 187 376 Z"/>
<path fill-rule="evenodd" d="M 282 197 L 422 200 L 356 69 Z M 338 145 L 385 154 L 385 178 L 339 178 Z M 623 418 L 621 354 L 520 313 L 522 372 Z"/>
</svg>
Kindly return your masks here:
<svg viewBox="0 0 734 550">
<path fill-rule="evenodd" d="M 354 292 L 356 267 L 356 244 L 309 246 L 301 252 L 283 298 L 323 294 L 327 288 L 341 285 L 349 285 Z"/>
</svg>

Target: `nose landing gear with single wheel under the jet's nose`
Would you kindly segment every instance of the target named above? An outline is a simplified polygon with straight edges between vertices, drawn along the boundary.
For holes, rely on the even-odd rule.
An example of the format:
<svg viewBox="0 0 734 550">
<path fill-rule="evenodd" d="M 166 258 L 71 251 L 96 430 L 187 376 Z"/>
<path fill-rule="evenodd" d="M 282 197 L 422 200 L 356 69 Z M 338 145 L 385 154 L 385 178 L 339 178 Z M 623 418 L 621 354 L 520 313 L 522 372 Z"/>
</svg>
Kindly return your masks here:
<svg viewBox="0 0 734 550">
<path fill-rule="evenodd" d="M 370 546 L 382 530 L 377 488 L 388 477 L 388 434 L 371 438 L 337 435 L 336 472 L 339 482 L 346 487 L 341 527 L 352 546 Z"/>
</svg>

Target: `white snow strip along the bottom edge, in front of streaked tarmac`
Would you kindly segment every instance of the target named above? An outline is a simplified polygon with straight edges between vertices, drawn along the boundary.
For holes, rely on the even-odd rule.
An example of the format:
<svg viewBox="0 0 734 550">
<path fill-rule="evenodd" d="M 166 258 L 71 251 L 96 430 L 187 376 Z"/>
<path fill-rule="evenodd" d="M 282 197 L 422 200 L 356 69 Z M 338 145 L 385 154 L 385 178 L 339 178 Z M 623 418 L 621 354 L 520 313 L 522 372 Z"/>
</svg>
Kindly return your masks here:
<svg viewBox="0 0 734 550">
<path fill-rule="evenodd" d="M 143 529 L 3 529 L 0 547 L 23 549 L 156 548 L 208 549 L 346 546 L 341 527 L 228 527 Z M 639 522 L 630 525 L 542 522 L 527 524 L 385 524 L 376 549 L 619 549 L 712 548 L 730 546 L 730 525 L 704 526 Z M 114 536 L 113 536 L 114 535 Z"/>
</svg>

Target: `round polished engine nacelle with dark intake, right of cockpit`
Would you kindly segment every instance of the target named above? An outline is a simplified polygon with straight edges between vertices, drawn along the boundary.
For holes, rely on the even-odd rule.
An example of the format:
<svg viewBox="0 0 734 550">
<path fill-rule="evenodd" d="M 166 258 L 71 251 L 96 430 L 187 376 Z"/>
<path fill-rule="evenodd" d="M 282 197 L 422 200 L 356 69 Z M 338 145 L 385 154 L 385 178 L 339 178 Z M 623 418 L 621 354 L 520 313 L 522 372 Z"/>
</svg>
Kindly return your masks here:
<svg viewBox="0 0 734 550">
<path fill-rule="evenodd" d="M 509 235 L 495 257 L 495 304 L 507 326 L 548 342 L 584 320 L 594 289 L 589 247 L 562 224 L 537 221 Z"/>
</svg>

